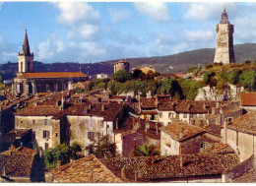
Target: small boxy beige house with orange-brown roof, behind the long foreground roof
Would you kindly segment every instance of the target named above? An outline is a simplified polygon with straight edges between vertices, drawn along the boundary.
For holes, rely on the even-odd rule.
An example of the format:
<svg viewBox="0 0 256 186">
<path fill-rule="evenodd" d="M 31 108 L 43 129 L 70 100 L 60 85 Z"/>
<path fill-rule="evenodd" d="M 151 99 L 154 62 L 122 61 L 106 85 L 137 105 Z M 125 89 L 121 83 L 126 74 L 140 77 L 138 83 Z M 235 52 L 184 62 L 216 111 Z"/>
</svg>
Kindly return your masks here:
<svg viewBox="0 0 256 186">
<path fill-rule="evenodd" d="M 160 128 L 160 155 L 197 154 L 205 131 L 177 121 Z"/>
</svg>

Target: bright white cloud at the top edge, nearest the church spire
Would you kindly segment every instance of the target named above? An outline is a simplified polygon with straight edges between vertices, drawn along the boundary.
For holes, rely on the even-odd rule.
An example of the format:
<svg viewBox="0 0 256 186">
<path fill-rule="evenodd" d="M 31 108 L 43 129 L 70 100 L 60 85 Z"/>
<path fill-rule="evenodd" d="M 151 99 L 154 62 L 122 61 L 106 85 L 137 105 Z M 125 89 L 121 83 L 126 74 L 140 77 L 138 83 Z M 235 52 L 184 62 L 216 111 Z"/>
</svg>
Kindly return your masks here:
<svg viewBox="0 0 256 186">
<path fill-rule="evenodd" d="M 62 2 L 55 4 L 60 10 L 57 21 L 61 24 L 72 25 L 76 22 L 92 22 L 100 18 L 99 13 L 87 3 Z"/>
</svg>

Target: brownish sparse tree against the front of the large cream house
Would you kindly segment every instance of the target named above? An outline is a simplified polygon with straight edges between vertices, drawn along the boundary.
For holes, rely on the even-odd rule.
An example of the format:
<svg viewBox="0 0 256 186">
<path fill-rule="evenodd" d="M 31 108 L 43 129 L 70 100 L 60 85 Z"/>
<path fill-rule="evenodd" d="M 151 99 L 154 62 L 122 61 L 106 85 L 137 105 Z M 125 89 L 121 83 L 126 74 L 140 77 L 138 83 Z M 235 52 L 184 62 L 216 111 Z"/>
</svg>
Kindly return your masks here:
<svg viewBox="0 0 256 186">
<path fill-rule="evenodd" d="M 111 142 L 109 135 L 101 135 L 98 132 L 90 141 L 92 144 L 86 148 L 90 155 L 96 155 L 97 158 L 102 158 L 104 155 L 117 156 L 116 145 Z"/>
</svg>

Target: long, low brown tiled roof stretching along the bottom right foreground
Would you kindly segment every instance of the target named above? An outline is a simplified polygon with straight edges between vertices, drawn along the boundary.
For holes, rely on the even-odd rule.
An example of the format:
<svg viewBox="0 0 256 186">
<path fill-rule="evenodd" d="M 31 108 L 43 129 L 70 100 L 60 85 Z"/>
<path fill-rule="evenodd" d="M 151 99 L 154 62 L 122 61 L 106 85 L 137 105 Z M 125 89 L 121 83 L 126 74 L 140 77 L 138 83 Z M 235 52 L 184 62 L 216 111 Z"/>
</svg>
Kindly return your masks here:
<svg viewBox="0 0 256 186">
<path fill-rule="evenodd" d="M 139 157 L 115 157 L 99 159 L 117 177 L 121 178 L 124 167 L 126 179 L 150 181 L 222 174 L 238 164 L 237 155 L 183 155 L 184 165 L 180 166 L 181 155 L 158 155 Z"/>
</svg>

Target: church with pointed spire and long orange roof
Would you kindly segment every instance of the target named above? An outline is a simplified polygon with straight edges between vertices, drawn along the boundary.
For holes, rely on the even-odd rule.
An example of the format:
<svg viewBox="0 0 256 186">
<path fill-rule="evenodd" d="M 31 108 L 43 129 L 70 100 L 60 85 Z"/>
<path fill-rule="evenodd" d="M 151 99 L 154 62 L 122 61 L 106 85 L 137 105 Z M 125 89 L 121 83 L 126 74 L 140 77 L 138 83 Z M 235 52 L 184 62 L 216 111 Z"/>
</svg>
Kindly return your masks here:
<svg viewBox="0 0 256 186">
<path fill-rule="evenodd" d="M 70 84 L 85 82 L 88 77 L 82 72 L 33 72 L 27 30 L 25 31 L 22 52 L 18 55 L 18 72 L 12 84 L 13 95 L 29 95 L 44 92 L 61 92 Z"/>
</svg>

